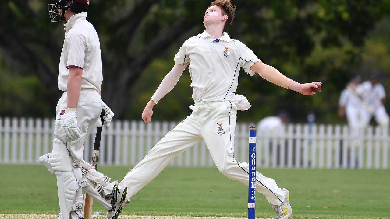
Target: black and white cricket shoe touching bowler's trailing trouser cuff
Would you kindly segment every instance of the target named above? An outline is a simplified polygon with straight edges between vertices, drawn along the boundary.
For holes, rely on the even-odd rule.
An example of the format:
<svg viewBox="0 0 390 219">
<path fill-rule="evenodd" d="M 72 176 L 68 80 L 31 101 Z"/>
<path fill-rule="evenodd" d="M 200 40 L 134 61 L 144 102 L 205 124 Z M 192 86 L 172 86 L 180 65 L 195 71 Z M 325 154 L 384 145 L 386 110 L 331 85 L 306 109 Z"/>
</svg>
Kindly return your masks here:
<svg viewBox="0 0 390 219">
<path fill-rule="evenodd" d="M 115 185 L 112 193 L 106 195 L 106 199 L 111 202 L 112 209 L 107 212 L 107 219 L 117 219 L 122 210 L 122 203 L 126 200 L 127 187 Z"/>
</svg>

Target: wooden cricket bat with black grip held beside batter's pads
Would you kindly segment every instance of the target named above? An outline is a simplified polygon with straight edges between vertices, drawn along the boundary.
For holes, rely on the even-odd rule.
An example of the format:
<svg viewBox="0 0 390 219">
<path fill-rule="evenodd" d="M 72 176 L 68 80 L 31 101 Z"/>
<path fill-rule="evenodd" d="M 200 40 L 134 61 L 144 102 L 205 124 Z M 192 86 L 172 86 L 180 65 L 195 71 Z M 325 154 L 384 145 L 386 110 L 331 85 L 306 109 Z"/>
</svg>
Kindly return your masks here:
<svg viewBox="0 0 390 219">
<path fill-rule="evenodd" d="M 91 165 L 97 169 L 97 162 L 99 161 L 99 148 L 100 148 L 100 139 L 101 139 L 101 130 L 103 129 L 103 115 L 105 111 L 103 110 L 100 114 L 100 119 L 102 122 L 102 126 L 98 127 L 96 130 L 96 137 L 94 143 L 94 152 L 92 154 Z M 92 218 L 92 201 L 93 198 L 89 196 L 89 194 L 85 193 L 84 199 L 84 218 L 91 219 Z"/>
</svg>

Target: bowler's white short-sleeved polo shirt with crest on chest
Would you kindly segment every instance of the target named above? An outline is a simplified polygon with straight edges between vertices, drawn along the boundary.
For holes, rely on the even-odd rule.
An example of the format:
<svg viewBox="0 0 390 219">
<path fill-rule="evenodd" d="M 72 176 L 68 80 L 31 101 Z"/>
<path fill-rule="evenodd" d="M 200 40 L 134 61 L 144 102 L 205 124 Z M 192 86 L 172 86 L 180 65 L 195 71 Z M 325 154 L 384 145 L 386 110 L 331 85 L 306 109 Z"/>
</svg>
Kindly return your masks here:
<svg viewBox="0 0 390 219">
<path fill-rule="evenodd" d="M 250 67 L 259 62 L 242 42 L 224 32 L 219 41 L 204 31 L 184 42 L 175 55 L 176 64 L 190 62 L 188 70 L 195 102 L 231 101 L 238 85 L 239 69 L 250 76 Z"/>
</svg>

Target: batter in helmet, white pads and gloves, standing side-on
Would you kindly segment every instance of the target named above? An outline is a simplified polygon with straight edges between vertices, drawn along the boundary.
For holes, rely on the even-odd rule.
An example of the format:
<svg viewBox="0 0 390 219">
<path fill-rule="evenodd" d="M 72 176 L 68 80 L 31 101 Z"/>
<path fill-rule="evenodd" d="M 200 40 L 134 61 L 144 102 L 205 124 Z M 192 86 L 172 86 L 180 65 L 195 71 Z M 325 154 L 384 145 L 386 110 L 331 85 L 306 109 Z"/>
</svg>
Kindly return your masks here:
<svg viewBox="0 0 390 219">
<path fill-rule="evenodd" d="M 103 72 L 99 37 L 89 23 L 89 0 L 60 0 L 49 4 L 51 21 L 66 20 L 58 88 L 64 91 L 56 108 L 53 152 L 39 158 L 57 177 L 59 219 L 83 218 L 82 191 L 90 194 L 117 218 L 127 188 L 97 172 L 83 161 L 83 143 L 94 128 L 102 108 L 104 124 L 113 113 L 100 97 Z"/>
</svg>

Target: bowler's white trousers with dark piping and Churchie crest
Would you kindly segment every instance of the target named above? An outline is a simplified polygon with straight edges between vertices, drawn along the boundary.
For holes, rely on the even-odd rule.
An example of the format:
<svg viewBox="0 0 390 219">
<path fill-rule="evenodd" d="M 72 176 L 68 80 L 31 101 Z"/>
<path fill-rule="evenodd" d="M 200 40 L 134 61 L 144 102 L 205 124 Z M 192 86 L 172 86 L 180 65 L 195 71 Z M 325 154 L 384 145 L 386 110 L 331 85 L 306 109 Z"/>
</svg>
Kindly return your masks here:
<svg viewBox="0 0 390 219">
<path fill-rule="evenodd" d="M 119 183 L 128 187 L 130 198 L 156 177 L 177 155 L 205 141 L 219 171 L 230 179 L 248 185 L 249 165 L 234 158 L 234 131 L 237 108 L 232 101 L 195 102 L 192 113 L 168 132 Z M 273 205 L 285 196 L 275 180 L 256 172 L 256 190 Z"/>
</svg>

